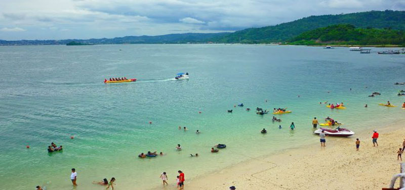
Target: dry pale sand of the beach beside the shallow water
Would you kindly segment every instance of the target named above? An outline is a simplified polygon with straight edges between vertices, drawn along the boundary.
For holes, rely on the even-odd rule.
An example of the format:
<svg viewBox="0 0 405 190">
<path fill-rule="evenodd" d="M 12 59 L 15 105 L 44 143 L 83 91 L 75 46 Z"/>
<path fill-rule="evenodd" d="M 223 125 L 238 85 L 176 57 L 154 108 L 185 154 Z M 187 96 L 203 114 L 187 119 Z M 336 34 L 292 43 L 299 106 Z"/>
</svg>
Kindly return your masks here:
<svg viewBox="0 0 405 190">
<path fill-rule="evenodd" d="M 264 158 L 252 158 L 188 180 L 184 189 L 227 190 L 232 185 L 236 189 L 255 190 L 388 187 L 391 177 L 399 173 L 401 162 L 396 160 L 396 152 L 405 137 L 403 124 L 397 123 L 391 129 L 397 130 L 379 130 L 378 147 L 373 146 L 371 130 L 351 138 L 327 137 L 326 147 L 314 143 Z M 355 148 L 355 138 L 361 141 L 359 151 Z"/>
</svg>

